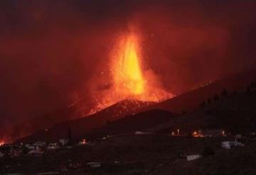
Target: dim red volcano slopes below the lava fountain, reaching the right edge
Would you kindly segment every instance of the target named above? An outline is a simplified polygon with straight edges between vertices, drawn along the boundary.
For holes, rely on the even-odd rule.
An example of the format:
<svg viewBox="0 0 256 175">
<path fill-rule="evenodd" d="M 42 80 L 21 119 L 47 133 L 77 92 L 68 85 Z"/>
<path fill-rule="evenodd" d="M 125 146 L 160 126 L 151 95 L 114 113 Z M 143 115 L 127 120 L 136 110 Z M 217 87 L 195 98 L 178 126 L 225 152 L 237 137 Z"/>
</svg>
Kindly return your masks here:
<svg viewBox="0 0 256 175">
<path fill-rule="evenodd" d="M 182 122 L 186 120 L 186 118 L 183 118 L 183 115 L 179 115 L 182 111 L 186 111 L 186 113 L 195 111 L 200 108 L 199 105 L 202 101 L 207 100 L 216 93 L 220 93 L 223 89 L 228 89 L 230 94 L 233 94 L 234 91 L 243 91 L 246 89 L 247 84 L 250 84 L 250 82 L 255 79 L 255 75 L 256 71 L 232 74 L 225 79 L 213 81 L 211 84 L 193 91 L 188 91 L 187 93 L 161 103 L 137 101 L 134 99 L 119 101 L 102 111 L 84 118 L 56 123 L 48 128 L 47 131 L 41 130 L 34 132 L 32 135 L 18 140 L 18 142 L 33 142 L 37 140 L 55 141 L 61 137 L 66 137 L 69 127 L 73 130 L 73 136 L 79 138 L 90 134 L 93 130 L 97 130 L 98 134 L 98 132 L 102 132 L 102 130 L 115 133 L 121 132 L 124 126 L 127 127 L 128 129 L 126 130 L 129 131 L 142 128 L 142 126 L 144 126 L 145 129 L 149 127 L 151 123 L 155 123 L 154 118 L 159 118 L 159 120 L 156 120 L 157 122 L 161 122 L 160 120 L 166 122 L 166 120 L 171 120 L 173 117 L 178 116 L 178 118 L 180 118 L 179 120 Z M 156 115 L 152 117 L 151 114 L 154 113 L 150 112 L 152 110 L 160 110 L 160 112 L 155 113 Z M 137 113 L 141 112 L 143 113 L 137 115 Z M 127 115 L 130 115 L 131 118 L 122 120 L 125 119 Z M 144 118 L 144 121 L 142 121 L 142 118 Z M 137 122 L 138 120 L 139 122 Z"/>
</svg>

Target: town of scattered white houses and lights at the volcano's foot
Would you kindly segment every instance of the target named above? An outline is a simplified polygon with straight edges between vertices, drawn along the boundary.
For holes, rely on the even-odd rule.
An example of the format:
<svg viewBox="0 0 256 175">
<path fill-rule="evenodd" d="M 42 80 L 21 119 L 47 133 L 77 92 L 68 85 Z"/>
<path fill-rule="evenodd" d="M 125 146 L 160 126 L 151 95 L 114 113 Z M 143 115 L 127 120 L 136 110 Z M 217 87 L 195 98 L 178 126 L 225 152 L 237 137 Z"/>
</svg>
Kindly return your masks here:
<svg viewBox="0 0 256 175">
<path fill-rule="evenodd" d="M 236 147 L 241 147 L 240 149 L 247 149 L 247 145 L 250 145 L 251 143 L 256 144 L 256 133 L 250 132 L 246 134 L 239 134 L 239 135 L 230 135 L 230 133 L 225 132 L 225 130 L 195 130 L 187 135 L 180 134 L 182 131 L 180 129 L 171 132 L 169 135 L 161 135 L 161 134 L 151 134 L 150 132 L 142 132 L 142 131 L 136 131 L 133 134 L 122 134 L 122 135 L 106 135 L 105 137 L 99 138 L 93 142 L 87 141 L 85 138 L 79 140 L 78 142 L 75 142 L 75 140 L 72 139 L 71 135 L 65 139 L 60 139 L 59 142 L 31 142 L 23 144 L 7 144 L 7 145 L 1 145 L 0 147 L 0 162 L 4 162 L 5 166 L 2 166 L 0 169 L 1 171 L 5 172 L 15 172 L 15 169 L 21 169 L 22 163 L 20 162 L 18 166 L 20 167 L 12 167 L 14 165 L 11 165 L 11 162 L 19 162 L 19 160 L 27 159 L 27 161 L 33 161 L 35 159 L 62 159 L 60 158 L 61 154 L 64 154 L 69 152 L 81 152 L 81 154 L 85 154 L 82 152 L 86 152 L 86 157 L 89 158 L 81 158 L 80 159 L 86 159 L 85 162 L 79 160 L 76 158 L 76 160 L 72 160 L 72 158 L 68 158 L 68 160 L 65 160 L 64 162 L 68 161 L 68 163 L 55 162 L 55 168 L 49 169 L 48 172 L 43 172 L 44 174 L 60 174 L 61 172 L 80 172 L 80 171 L 105 171 L 106 167 L 108 166 L 114 166 L 114 169 L 117 169 L 118 166 L 124 166 L 127 164 L 130 164 L 130 161 L 121 162 L 120 159 L 117 159 L 117 157 L 112 157 L 112 159 L 99 161 L 99 157 L 102 155 L 97 155 L 97 158 L 92 159 L 92 156 L 90 154 L 98 154 L 95 152 L 98 152 L 98 149 L 101 149 L 100 147 L 105 147 L 106 145 L 112 145 L 112 147 L 117 148 L 118 147 L 143 147 L 142 143 L 139 143 L 139 145 L 132 143 L 137 142 L 136 140 L 144 140 L 148 139 L 149 137 L 154 138 L 157 140 L 157 138 L 161 138 L 164 140 L 171 140 L 169 144 L 174 145 L 182 144 L 182 142 L 196 142 L 195 145 L 202 144 L 203 142 L 210 142 L 211 144 L 205 144 L 207 146 L 200 146 L 200 149 L 196 149 L 191 151 L 190 149 L 184 149 L 184 145 L 181 147 L 181 150 L 178 150 L 176 148 L 176 152 L 180 152 L 179 154 L 176 154 L 173 158 L 173 161 L 181 161 L 184 160 L 186 162 L 191 162 L 195 159 L 203 159 L 204 157 L 210 157 L 214 154 L 217 154 L 216 152 L 225 152 L 229 149 L 238 149 Z M 125 141 L 125 138 L 129 141 Z M 135 138 L 135 139 L 134 139 Z M 137 138 L 137 139 L 136 139 Z M 175 140 L 175 143 L 174 143 Z M 147 140 L 149 141 L 149 140 Z M 141 141 L 139 141 L 141 142 Z M 201 143 L 202 142 L 202 143 Z M 142 144 L 142 145 L 141 145 Z M 125 146 L 122 146 L 125 145 Z M 131 146 L 132 145 L 132 146 Z M 152 143 L 151 143 L 152 145 Z M 161 147 L 161 143 L 156 142 L 154 145 L 157 145 L 156 147 Z M 150 146 L 149 146 L 150 147 Z M 189 147 L 188 147 L 189 148 Z M 199 148 L 199 147 L 198 147 Z M 132 148 L 131 148 L 132 149 Z M 170 148 L 169 148 L 170 149 Z M 223 151 L 221 151 L 223 149 Z M 85 151 L 86 150 L 86 151 Z M 88 151 L 90 150 L 90 151 Z M 114 150 L 117 151 L 117 150 Z M 141 150 L 140 152 L 143 152 Z M 145 153 L 146 154 L 146 153 Z M 50 155 L 55 155 L 54 157 L 50 157 Z M 171 157 L 173 155 L 170 154 Z M 65 158 L 63 158 L 65 159 Z M 49 160 L 48 160 L 49 161 Z M 51 160 L 53 161 L 53 160 Z M 139 164 L 139 160 L 135 157 L 135 160 L 132 161 L 131 164 Z M 181 163 L 183 164 L 183 163 Z M 15 165 L 17 166 L 17 165 Z M 135 165 L 134 165 L 135 166 Z M 9 169 L 9 170 L 8 170 Z M 38 169 L 36 169 L 36 172 L 38 173 Z M 103 169 L 103 170 L 102 170 Z M 128 168 L 129 169 L 129 168 Z M 133 169 L 133 168 L 132 168 Z M 24 170 L 23 170 L 24 171 Z M 34 173 L 33 171 L 24 171 L 29 173 Z"/>
</svg>

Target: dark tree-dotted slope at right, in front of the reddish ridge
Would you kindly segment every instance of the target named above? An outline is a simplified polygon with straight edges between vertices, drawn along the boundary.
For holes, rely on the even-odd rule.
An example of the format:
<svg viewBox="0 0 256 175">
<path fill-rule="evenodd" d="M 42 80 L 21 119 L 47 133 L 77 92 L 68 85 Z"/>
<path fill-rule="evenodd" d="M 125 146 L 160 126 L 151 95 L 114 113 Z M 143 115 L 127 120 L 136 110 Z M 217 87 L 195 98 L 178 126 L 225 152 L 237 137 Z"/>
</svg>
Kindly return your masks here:
<svg viewBox="0 0 256 175">
<path fill-rule="evenodd" d="M 206 98 L 207 100 L 208 98 Z M 203 104 L 203 105 L 202 105 Z M 228 132 L 252 132 L 256 126 L 256 89 L 240 91 L 238 94 L 226 94 L 210 103 L 198 104 L 198 109 L 186 113 L 180 118 L 151 128 L 150 132 L 168 132 L 177 128 L 181 132 L 199 129 L 223 128 Z"/>
</svg>

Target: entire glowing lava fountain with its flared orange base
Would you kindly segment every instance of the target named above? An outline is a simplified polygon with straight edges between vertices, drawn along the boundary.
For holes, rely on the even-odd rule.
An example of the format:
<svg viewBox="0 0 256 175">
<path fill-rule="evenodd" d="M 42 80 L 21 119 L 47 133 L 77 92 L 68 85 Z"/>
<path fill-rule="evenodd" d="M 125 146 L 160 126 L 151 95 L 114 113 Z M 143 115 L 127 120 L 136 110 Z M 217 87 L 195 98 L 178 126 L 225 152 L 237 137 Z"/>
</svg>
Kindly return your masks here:
<svg viewBox="0 0 256 175">
<path fill-rule="evenodd" d="M 111 84 L 110 89 L 102 92 L 97 98 L 97 108 L 91 113 L 126 99 L 160 102 L 173 97 L 173 94 L 161 89 L 157 76 L 145 67 L 138 35 L 121 35 L 110 54 L 111 82 L 105 83 Z"/>
</svg>

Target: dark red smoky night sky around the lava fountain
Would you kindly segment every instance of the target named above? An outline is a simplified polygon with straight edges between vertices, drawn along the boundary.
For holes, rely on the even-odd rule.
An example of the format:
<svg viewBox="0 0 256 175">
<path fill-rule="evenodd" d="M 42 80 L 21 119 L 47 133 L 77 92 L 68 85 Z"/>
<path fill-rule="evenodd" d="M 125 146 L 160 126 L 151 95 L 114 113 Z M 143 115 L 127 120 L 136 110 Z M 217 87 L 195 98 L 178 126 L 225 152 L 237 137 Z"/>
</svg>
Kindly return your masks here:
<svg viewBox="0 0 256 175">
<path fill-rule="evenodd" d="M 90 103 L 131 24 L 173 94 L 254 69 L 255 9 L 253 0 L 1 0 L 0 132 L 81 96 Z"/>
</svg>

